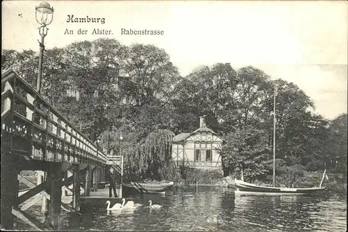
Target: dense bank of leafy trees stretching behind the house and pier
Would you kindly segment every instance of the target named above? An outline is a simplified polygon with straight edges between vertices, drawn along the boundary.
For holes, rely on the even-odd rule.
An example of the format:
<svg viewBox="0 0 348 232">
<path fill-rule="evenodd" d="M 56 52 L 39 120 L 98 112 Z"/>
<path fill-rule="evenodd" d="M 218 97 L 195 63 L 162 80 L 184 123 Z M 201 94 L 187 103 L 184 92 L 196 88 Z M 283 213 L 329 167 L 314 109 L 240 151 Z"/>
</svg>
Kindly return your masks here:
<svg viewBox="0 0 348 232">
<path fill-rule="evenodd" d="M 13 68 L 33 87 L 37 64 L 36 52 L 3 50 L 1 68 Z M 224 139 L 225 171 L 269 178 L 274 86 L 277 172 L 346 173 L 347 114 L 327 121 L 298 86 L 257 68 L 216 63 L 181 77 L 163 49 L 111 39 L 48 49 L 43 67 L 42 95 L 107 153 L 122 152 L 129 178 L 180 181 L 171 139 L 196 130 L 201 115 Z"/>
</svg>

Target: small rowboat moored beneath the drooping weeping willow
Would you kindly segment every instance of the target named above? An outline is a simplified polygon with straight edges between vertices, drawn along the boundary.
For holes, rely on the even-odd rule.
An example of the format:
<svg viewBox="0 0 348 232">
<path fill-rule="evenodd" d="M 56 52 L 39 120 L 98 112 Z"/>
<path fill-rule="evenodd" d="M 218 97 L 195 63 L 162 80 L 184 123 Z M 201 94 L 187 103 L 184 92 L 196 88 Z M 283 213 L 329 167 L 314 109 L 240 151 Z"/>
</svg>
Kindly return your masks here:
<svg viewBox="0 0 348 232">
<path fill-rule="evenodd" d="M 173 181 L 159 184 L 131 182 L 122 183 L 122 189 L 129 194 L 165 194 L 173 185 Z"/>
</svg>

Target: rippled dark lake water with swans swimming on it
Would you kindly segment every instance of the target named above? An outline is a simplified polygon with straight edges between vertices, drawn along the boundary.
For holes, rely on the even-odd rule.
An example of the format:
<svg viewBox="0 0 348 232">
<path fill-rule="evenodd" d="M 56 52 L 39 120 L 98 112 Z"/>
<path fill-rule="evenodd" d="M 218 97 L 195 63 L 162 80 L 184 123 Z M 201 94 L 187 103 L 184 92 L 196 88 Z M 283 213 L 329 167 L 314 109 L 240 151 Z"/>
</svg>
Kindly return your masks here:
<svg viewBox="0 0 348 232">
<path fill-rule="evenodd" d="M 189 187 L 129 197 L 143 206 L 106 214 L 106 206 L 82 215 L 62 212 L 65 231 L 346 231 L 347 196 L 236 196 L 233 189 Z M 163 206 L 150 210 L 148 201 Z M 30 208 L 40 215 L 40 208 Z M 35 211 L 35 212 L 34 212 Z M 29 229 L 19 220 L 16 229 Z"/>
</svg>

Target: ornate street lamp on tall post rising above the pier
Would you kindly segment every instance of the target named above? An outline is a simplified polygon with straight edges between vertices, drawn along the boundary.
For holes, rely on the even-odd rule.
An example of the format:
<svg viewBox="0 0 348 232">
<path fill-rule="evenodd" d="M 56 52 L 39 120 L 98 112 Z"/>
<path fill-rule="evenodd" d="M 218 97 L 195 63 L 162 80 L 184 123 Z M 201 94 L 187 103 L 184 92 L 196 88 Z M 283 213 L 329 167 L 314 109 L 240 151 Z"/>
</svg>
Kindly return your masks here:
<svg viewBox="0 0 348 232">
<path fill-rule="evenodd" d="M 45 50 L 44 38 L 47 36 L 48 28 L 47 26 L 51 24 L 53 20 L 53 7 L 49 6 L 49 3 L 42 1 L 39 6 L 35 7 L 35 18 L 36 21 L 40 24 L 39 34 L 41 36 L 40 45 L 40 56 L 39 56 L 39 70 L 38 70 L 38 82 L 36 85 L 36 91 L 40 93 L 41 91 L 41 75 L 42 75 L 42 58 L 43 51 Z"/>
</svg>

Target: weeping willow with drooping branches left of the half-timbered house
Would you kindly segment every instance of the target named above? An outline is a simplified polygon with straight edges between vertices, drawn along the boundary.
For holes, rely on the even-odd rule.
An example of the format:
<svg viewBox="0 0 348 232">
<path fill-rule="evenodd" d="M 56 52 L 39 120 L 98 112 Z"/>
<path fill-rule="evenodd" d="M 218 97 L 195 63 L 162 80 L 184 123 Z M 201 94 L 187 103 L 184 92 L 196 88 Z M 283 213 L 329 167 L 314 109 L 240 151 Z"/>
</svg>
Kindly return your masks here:
<svg viewBox="0 0 348 232">
<path fill-rule="evenodd" d="M 120 153 L 120 132 L 105 132 L 100 140 L 108 153 Z M 159 180 L 174 180 L 175 163 L 171 159 L 171 144 L 175 134 L 171 130 L 157 129 L 139 140 L 139 133 L 122 130 L 122 155 L 124 171 L 134 178 L 153 178 Z"/>
</svg>

